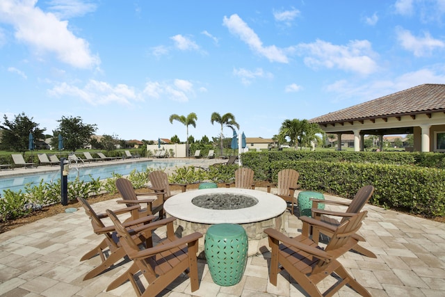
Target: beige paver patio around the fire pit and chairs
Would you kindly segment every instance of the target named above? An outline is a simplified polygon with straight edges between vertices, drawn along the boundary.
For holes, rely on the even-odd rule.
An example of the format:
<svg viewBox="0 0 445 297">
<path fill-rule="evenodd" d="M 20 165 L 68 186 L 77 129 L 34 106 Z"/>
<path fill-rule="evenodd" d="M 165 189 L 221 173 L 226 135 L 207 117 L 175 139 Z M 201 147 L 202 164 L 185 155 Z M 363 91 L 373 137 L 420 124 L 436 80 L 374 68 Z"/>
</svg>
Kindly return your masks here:
<svg viewBox="0 0 445 297">
<path fill-rule="evenodd" d="M 266 191 L 266 188 L 258 188 Z M 193 190 L 190 190 L 193 191 Z M 327 199 L 343 200 L 330 195 Z M 118 209 L 115 200 L 93 204 L 96 211 Z M 326 209 L 338 207 L 326 205 Z M 366 205 L 369 211 L 359 234 L 363 244 L 376 255 L 371 259 L 347 252 L 341 263 L 372 296 L 445 296 L 445 224 L 380 207 Z M 299 234 L 301 223 L 285 211 L 284 227 L 288 234 Z M 165 229 L 156 230 L 163 237 Z M 156 236 L 155 236 L 156 237 Z M 123 273 L 130 263 L 124 262 L 91 280 L 83 275 L 99 264 L 98 257 L 80 262 L 101 236 L 92 232 L 90 221 L 81 209 L 38 220 L 0 234 L 1 296 L 135 296 L 129 282 L 105 292 L 108 284 Z M 199 260 L 200 289 L 191 293 L 187 278 L 178 278 L 161 296 L 307 296 L 289 275 L 280 273 L 278 286 L 268 282 L 268 246 L 261 255 L 248 258 L 240 283 L 232 287 L 214 284 L 209 268 Z M 319 287 L 330 286 L 327 278 Z M 334 296 L 358 296 L 343 287 Z"/>
</svg>

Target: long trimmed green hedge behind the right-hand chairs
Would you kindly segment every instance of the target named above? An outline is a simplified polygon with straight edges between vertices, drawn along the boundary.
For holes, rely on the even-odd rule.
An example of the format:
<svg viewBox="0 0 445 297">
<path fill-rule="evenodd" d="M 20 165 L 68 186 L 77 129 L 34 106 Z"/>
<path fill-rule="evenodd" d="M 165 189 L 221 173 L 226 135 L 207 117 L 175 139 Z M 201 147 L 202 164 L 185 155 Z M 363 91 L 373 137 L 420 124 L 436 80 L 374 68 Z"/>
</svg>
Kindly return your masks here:
<svg viewBox="0 0 445 297">
<path fill-rule="evenodd" d="M 334 153 L 337 154 L 337 153 Z M 303 189 L 323 191 L 344 198 L 353 198 L 357 189 L 366 184 L 372 184 L 375 192 L 371 203 L 386 208 L 403 208 L 412 214 L 421 214 L 428 217 L 445 216 L 445 170 L 427 168 L 425 164 L 443 160 L 443 154 L 416 154 L 412 157 L 414 163 L 422 166 L 413 166 L 414 163 L 402 162 L 410 159 L 408 153 L 385 154 L 379 161 L 350 161 L 362 160 L 363 156 L 375 152 L 338 152 L 344 154 L 341 160 L 332 159 L 323 152 L 303 152 L 289 154 L 289 152 L 242 155 L 243 166 L 255 171 L 255 179 L 272 180 L 276 182 L 277 172 L 285 168 L 293 168 L 300 172 L 299 184 Z M 351 156 L 357 154 L 357 156 Z M 399 156 L 397 156 L 397 154 Z M 284 155 L 290 157 L 286 160 Z M 400 156 L 401 155 L 401 156 Z M 406 155 L 406 157 L 405 157 Z M 304 156 L 304 157 L 300 157 Z M 318 157 L 328 161 L 319 161 Z M 294 160 L 292 160 L 295 158 Z M 346 161 L 345 159 L 348 159 Z M 392 160 L 382 161 L 383 159 Z M 399 161 L 396 161 L 399 160 Z M 417 162 L 417 160 L 420 160 Z M 398 164 L 398 163 L 401 164 Z M 410 164 L 410 165 L 407 165 Z"/>
</svg>

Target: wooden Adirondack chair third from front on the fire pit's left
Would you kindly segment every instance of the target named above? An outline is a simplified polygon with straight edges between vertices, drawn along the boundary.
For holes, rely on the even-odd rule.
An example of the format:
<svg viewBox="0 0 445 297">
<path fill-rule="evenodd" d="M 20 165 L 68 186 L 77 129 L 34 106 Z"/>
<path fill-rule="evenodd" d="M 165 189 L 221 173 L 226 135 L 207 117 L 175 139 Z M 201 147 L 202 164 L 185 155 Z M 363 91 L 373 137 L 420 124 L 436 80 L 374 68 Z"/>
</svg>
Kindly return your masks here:
<svg viewBox="0 0 445 297">
<path fill-rule="evenodd" d="M 150 216 L 159 213 L 159 218 L 163 218 L 163 195 L 156 193 L 144 193 L 143 195 L 136 195 L 133 184 L 128 179 L 122 177 L 116 179 L 116 188 L 123 200 L 118 200 L 118 203 L 125 203 L 127 206 L 147 204 L 145 209 L 140 209 L 141 216 Z"/>
</svg>

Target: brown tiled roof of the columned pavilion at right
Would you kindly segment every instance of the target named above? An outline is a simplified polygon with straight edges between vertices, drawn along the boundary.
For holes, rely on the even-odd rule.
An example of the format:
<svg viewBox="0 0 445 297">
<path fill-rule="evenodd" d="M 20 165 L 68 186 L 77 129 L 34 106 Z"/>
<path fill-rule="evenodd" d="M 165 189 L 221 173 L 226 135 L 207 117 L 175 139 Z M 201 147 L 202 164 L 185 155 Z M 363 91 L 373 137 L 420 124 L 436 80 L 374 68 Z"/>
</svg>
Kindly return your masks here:
<svg viewBox="0 0 445 297">
<path fill-rule="evenodd" d="M 321 115 L 314 123 L 343 122 L 388 116 L 414 115 L 445 111 L 445 84 L 426 83 L 414 88 L 373 99 L 362 104 Z"/>
</svg>

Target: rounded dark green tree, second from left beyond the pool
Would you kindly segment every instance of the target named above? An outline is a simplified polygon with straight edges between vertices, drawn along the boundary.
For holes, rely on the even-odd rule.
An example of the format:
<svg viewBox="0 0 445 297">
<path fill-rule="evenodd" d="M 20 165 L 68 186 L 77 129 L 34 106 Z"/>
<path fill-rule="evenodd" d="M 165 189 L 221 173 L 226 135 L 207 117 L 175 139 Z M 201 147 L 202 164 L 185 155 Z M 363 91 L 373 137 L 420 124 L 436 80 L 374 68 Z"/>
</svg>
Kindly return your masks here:
<svg viewBox="0 0 445 297">
<path fill-rule="evenodd" d="M 84 124 L 80 117 L 63 116 L 58 122 L 58 128 L 53 130 L 53 141 L 57 141 L 58 135 L 62 134 L 63 147 L 73 152 L 90 144 L 92 134 L 97 131 L 97 125 Z"/>
</svg>

